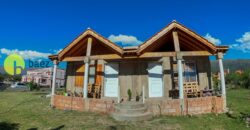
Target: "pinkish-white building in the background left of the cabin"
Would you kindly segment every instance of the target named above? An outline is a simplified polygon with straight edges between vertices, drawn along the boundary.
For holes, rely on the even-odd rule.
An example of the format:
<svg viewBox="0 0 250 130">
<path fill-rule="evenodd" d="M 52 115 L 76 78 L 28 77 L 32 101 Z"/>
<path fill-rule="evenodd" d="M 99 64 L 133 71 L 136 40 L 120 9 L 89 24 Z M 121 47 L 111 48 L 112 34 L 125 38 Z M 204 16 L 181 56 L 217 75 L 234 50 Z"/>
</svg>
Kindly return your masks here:
<svg viewBox="0 0 250 130">
<path fill-rule="evenodd" d="M 39 68 L 28 70 L 26 75 L 22 75 L 21 82 L 34 82 L 39 86 L 51 87 L 53 76 L 53 68 Z M 62 87 L 65 83 L 65 70 L 57 69 L 56 87 Z"/>
</svg>

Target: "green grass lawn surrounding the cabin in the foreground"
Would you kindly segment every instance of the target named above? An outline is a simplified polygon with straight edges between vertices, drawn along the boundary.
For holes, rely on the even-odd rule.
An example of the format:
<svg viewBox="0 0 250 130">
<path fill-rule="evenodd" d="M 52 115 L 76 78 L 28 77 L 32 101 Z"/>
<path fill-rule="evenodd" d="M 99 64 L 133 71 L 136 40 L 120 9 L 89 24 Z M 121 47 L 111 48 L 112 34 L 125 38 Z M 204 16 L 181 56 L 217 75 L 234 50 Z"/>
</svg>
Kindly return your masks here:
<svg viewBox="0 0 250 130">
<path fill-rule="evenodd" d="M 250 113 L 250 90 L 228 90 L 233 117 L 207 114 L 161 116 L 143 122 L 117 122 L 108 115 L 53 110 L 40 92 L 0 92 L 0 129 L 185 129 L 244 130 L 239 112 Z"/>
</svg>

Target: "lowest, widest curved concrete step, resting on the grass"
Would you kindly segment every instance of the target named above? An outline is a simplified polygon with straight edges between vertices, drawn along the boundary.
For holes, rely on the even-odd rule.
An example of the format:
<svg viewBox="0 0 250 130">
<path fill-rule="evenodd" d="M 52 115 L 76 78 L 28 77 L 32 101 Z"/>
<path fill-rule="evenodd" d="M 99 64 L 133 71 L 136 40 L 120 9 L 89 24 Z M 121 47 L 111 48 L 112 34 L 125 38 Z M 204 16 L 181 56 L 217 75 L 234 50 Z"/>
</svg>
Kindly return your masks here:
<svg viewBox="0 0 250 130">
<path fill-rule="evenodd" d="M 112 117 L 117 121 L 143 121 L 149 120 L 153 117 L 151 112 L 145 112 L 140 114 L 121 114 L 121 113 L 112 113 Z"/>
</svg>

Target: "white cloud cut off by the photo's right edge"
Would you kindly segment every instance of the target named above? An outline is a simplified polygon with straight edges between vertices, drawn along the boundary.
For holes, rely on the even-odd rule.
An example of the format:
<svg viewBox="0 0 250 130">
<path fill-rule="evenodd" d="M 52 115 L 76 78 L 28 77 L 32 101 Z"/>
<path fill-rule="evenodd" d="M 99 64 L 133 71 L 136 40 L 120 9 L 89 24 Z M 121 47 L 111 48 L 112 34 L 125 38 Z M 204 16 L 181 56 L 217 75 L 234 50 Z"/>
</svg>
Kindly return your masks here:
<svg viewBox="0 0 250 130">
<path fill-rule="evenodd" d="M 241 50 L 244 53 L 250 53 L 250 32 L 245 32 L 241 38 L 236 39 L 238 44 L 232 44 L 230 47 Z"/>
</svg>

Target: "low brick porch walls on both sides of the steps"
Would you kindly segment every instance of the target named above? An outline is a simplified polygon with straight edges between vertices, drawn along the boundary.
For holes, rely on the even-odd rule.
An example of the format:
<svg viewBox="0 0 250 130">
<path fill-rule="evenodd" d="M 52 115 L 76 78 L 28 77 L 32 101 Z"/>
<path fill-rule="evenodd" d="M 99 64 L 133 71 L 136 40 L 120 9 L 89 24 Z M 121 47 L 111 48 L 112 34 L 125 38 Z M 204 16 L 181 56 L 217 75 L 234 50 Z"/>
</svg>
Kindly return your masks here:
<svg viewBox="0 0 250 130">
<path fill-rule="evenodd" d="M 181 115 L 179 99 L 146 99 L 148 110 L 153 115 Z M 54 96 L 54 107 L 62 110 L 91 111 L 100 113 L 114 112 L 112 99 L 83 99 L 82 97 Z M 223 98 L 210 96 L 185 99 L 184 114 L 222 113 Z"/>
</svg>

